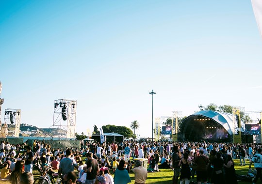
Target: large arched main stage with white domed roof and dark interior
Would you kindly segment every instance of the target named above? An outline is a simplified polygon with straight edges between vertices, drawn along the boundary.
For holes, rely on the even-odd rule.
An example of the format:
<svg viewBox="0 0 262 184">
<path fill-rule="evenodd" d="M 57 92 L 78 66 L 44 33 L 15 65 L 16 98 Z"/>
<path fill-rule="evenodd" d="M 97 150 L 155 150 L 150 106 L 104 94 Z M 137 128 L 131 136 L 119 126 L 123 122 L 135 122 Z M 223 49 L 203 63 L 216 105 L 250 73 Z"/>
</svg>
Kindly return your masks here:
<svg viewBox="0 0 262 184">
<path fill-rule="evenodd" d="M 244 132 L 245 123 L 241 122 L 238 128 L 237 121 L 236 116 L 230 113 L 202 110 L 183 120 L 182 134 L 190 140 L 228 138 L 228 135 L 233 135 L 233 131 Z"/>
</svg>

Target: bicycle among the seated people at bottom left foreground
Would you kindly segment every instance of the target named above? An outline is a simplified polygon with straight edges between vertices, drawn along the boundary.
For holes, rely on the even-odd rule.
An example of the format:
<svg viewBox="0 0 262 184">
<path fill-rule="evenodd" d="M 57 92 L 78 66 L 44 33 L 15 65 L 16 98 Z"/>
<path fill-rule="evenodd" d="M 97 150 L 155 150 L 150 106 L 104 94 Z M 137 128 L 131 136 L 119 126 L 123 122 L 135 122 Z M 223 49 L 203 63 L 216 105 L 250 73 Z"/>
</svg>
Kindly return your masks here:
<svg viewBox="0 0 262 184">
<path fill-rule="evenodd" d="M 63 179 L 59 178 L 58 175 L 49 173 L 50 168 L 49 166 L 41 170 L 41 176 L 36 178 L 33 184 L 62 184 Z"/>
</svg>

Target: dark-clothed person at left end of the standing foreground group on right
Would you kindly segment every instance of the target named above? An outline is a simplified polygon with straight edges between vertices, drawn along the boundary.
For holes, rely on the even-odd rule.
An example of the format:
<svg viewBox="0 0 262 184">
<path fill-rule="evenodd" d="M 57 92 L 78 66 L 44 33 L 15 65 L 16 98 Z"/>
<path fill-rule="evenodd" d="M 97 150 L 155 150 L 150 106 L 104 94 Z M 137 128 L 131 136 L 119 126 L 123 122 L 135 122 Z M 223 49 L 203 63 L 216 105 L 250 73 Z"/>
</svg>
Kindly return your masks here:
<svg viewBox="0 0 262 184">
<path fill-rule="evenodd" d="M 180 155 L 179 155 L 179 147 L 174 146 L 174 153 L 172 153 L 172 167 L 174 169 L 174 175 L 172 178 L 173 184 L 178 184 L 178 178 L 180 175 L 180 167 L 179 167 L 179 162 L 180 162 Z"/>
</svg>

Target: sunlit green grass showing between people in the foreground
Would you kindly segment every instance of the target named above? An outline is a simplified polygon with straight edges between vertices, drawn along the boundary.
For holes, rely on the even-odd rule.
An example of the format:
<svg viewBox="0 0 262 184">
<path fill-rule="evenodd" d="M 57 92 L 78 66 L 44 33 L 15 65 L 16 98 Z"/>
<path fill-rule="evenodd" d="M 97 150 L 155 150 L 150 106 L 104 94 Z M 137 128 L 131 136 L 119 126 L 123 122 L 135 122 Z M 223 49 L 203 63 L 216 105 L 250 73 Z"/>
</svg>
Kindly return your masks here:
<svg viewBox="0 0 262 184">
<path fill-rule="evenodd" d="M 246 175 L 248 172 L 249 161 L 246 160 L 246 166 L 240 166 L 239 160 L 234 160 L 235 169 L 237 174 Z M 254 169 L 254 165 L 252 165 Z M 76 170 L 75 170 L 76 171 Z M 34 179 L 40 176 L 40 173 L 37 170 L 33 170 Z M 131 184 L 134 184 L 134 173 L 130 173 Z M 161 169 L 161 172 L 148 172 L 147 175 L 147 184 L 172 184 L 173 171 L 171 169 Z M 196 180 L 196 178 L 195 178 Z M 0 184 L 9 184 L 8 181 L 0 181 Z M 239 184 L 251 184 L 248 182 L 239 182 Z M 257 184 L 262 184 L 259 180 Z"/>
</svg>

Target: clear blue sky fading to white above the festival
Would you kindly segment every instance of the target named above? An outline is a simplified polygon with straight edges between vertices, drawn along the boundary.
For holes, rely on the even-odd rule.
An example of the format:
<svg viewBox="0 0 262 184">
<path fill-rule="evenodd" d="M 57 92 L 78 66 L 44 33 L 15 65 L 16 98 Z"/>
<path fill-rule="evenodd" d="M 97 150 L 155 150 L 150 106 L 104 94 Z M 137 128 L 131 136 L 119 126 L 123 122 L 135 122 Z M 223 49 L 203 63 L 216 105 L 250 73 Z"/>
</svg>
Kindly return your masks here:
<svg viewBox="0 0 262 184">
<path fill-rule="evenodd" d="M 57 99 L 94 124 L 151 136 L 154 117 L 210 103 L 262 110 L 262 39 L 250 0 L 1 0 L 5 108 L 50 127 Z"/>
</svg>

